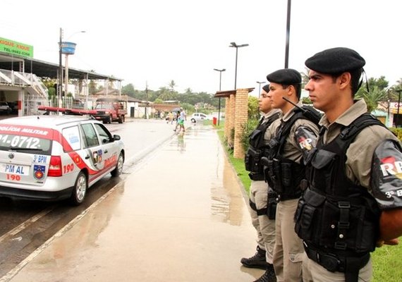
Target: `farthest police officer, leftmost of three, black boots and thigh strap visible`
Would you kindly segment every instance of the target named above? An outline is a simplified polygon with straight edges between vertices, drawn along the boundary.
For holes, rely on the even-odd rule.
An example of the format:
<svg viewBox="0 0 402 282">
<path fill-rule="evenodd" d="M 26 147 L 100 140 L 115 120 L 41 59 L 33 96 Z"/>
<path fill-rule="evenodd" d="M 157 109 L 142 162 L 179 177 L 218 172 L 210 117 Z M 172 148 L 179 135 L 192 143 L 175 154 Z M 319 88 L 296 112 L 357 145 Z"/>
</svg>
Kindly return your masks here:
<svg viewBox="0 0 402 282">
<path fill-rule="evenodd" d="M 245 154 L 245 168 L 250 171 L 250 215 L 252 225 L 257 231 L 257 252 L 249 258 L 243 257 L 240 262 L 245 267 L 259 268 L 266 270 L 256 282 L 276 281 L 274 267 L 272 266 L 272 252 L 275 244 L 275 221 L 274 214 L 268 216 L 268 212 L 275 208 L 274 204 L 268 207 L 268 185 L 264 180 L 261 157 L 264 153 L 264 133 L 279 116 L 279 109 L 272 109 L 268 99 L 269 85 L 262 87 L 262 94 L 258 106 L 264 114 L 257 128 L 249 136 L 249 147 Z M 272 197 L 275 200 L 275 197 Z M 268 208 L 267 208 L 268 207 Z M 270 219 L 271 218 L 271 219 Z"/>
</svg>

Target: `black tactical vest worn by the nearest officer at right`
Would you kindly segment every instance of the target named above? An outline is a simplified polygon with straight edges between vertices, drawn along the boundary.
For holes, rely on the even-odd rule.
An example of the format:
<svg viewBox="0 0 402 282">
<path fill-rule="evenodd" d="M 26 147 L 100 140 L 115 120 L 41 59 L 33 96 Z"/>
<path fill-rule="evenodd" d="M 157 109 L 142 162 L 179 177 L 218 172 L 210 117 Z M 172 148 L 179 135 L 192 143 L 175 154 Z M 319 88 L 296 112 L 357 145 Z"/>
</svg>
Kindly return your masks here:
<svg viewBox="0 0 402 282">
<path fill-rule="evenodd" d="M 306 245 L 348 257 L 372 252 L 379 235 L 380 211 L 367 188 L 346 176 L 346 151 L 363 128 L 383 125 L 363 114 L 329 144 L 324 128 L 308 160 L 310 188 L 298 203 L 295 231 Z M 384 126 L 384 125 L 383 125 Z"/>
</svg>

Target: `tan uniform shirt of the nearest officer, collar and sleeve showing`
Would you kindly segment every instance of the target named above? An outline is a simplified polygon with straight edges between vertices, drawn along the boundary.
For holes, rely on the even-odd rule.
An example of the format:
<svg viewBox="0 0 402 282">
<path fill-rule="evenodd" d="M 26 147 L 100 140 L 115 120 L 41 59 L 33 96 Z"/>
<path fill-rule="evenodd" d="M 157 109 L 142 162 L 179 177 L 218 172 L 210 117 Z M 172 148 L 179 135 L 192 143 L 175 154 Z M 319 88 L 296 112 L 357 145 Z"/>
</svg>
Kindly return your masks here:
<svg viewBox="0 0 402 282">
<path fill-rule="evenodd" d="M 319 124 L 327 128 L 323 136 L 324 144 L 334 140 L 340 133 L 343 126 L 350 125 L 358 116 L 367 112 L 367 106 L 364 99 L 355 101 L 355 104 L 345 111 L 336 121 L 329 124 L 327 116 L 322 116 Z M 372 157 L 375 148 L 385 139 L 398 141 L 386 128 L 380 125 L 371 125 L 364 128 L 351 146 L 346 151 L 346 176 L 355 184 L 360 184 L 365 188 L 370 185 L 370 172 L 372 166 Z M 371 189 L 369 189 L 371 191 Z"/>
</svg>

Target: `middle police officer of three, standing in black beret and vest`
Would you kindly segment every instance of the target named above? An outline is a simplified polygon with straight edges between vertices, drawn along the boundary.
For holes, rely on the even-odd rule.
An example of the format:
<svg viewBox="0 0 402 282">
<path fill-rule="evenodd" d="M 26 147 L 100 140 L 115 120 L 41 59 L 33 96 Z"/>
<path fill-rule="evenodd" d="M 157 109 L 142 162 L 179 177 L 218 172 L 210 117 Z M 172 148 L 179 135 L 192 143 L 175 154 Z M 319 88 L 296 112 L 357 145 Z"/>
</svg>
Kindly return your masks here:
<svg viewBox="0 0 402 282">
<path fill-rule="evenodd" d="M 302 280 L 303 242 L 295 233 L 293 217 L 301 195 L 300 185 L 305 181 L 303 157 L 315 145 L 318 118 L 316 112 L 301 108 L 298 71 L 290 68 L 274 71 L 267 75 L 267 80 L 271 82 L 268 96 L 272 107 L 281 109 L 283 114 L 265 134 L 265 139 L 270 140 L 267 181 L 279 200 L 273 263 L 277 281 L 299 282 Z"/>
</svg>

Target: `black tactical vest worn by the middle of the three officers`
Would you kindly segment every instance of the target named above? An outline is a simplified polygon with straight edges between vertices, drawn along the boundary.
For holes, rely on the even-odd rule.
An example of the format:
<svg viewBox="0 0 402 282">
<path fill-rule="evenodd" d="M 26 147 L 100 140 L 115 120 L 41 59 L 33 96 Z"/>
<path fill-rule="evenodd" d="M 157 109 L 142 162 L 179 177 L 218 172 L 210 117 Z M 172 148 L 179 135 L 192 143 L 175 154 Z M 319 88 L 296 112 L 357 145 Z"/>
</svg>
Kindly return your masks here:
<svg viewBox="0 0 402 282">
<path fill-rule="evenodd" d="M 269 186 L 279 195 L 279 200 L 297 199 L 301 195 L 300 182 L 305 179 L 305 166 L 281 156 L 286 138 L 293 124 L 299 119 L 307 119 L 315 124 L 319 122 L 319 114 L 308 106 L 295 108 L 295 114 L 278 130 L 276 136 L 269 142 L 269 154 L 263 160 L 266 166 L 265 178 Z"/>
</svg>

